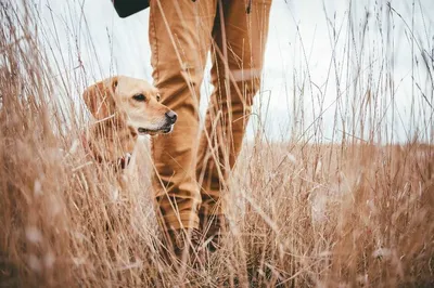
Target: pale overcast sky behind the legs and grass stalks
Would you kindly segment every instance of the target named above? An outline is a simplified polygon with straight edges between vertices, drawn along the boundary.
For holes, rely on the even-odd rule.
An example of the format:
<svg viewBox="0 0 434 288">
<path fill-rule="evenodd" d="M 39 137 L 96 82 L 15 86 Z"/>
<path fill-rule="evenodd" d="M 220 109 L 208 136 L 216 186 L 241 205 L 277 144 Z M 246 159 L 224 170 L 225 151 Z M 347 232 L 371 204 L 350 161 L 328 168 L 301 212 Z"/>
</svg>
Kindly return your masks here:
<svg viewBox="0 0 434 288">
<path fill-rule="evenodd" d="M 421 51 L 432 60 L 434 1 L 391 2 L 392 12 L 386 1 L 353 1 L 350 5 L 347 0 L 275 0 L 263 91 L 255 103 L 261 113 L 251 121 L 247 136 L 252 139 L 253 129 L 261 123 L 272 140 L 289 140 L 295 127 L 309 139 L 339 140 L 343 130 L 348 131 L 342 120 L 349 125 L 359 119 L 360 109 L 353 107 L 363 104 L 368 87 L 378 104 L 367 108 L 375 129 L 388 127 L 394 141 L 406 141 L 418 129 L 426 131 L 432 122 L 432 82 Z M 72 96 L 114 74 L 152 81 L 149 11 L 123 19 L 108 0 L 36 3 L 44 41 L 53 48 L 53 57 L 63 60 L 59 69 L 69 81 Z M 354 34 L 348 32 L 349 19 Z M 412 62 L 411 54 L 418 62 Z M 85 78 L 80 77 L 84 73 Z M 202 113 L 212 90 L 208 80 L 202 89 Z"/>
</svg>

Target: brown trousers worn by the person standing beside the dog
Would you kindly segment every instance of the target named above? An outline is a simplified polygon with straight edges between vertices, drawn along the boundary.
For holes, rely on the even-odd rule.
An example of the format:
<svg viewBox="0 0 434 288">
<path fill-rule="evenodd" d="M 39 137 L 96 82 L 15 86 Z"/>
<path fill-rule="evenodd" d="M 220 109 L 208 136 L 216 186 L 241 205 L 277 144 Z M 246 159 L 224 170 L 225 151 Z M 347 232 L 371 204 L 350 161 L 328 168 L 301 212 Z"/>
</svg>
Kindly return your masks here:
<svg viewBox="0 0 434 288">
<path fill-rule="evenodd" d="M 240 153 L 260 70 L 271 0 L 151 0 L 154 84 L 178 114 L 173 133 L 152 140 L 153 187 L 168 228 L 196 228 L 222 213 L 226 180 Z M 200 87 L 213 62 L 205 126 Z"/>
</svg>

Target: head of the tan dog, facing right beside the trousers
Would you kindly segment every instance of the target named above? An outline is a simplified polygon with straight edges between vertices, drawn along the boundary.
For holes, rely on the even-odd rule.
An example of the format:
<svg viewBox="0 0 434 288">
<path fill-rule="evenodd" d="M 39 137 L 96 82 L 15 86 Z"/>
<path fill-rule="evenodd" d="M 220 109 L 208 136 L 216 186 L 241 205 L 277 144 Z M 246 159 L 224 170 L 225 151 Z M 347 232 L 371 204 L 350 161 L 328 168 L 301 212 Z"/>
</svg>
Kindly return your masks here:
<svg viewBox="0 0 434 288">
<path fill-rule="evenodd" d="M 145 80 L 117 76 L 89 87 L 85 103 L 97 120 L 125 120 L 138 134 L 169 133 L 177 114 L 159 103 L 158 90 Z"/>
</svg>

